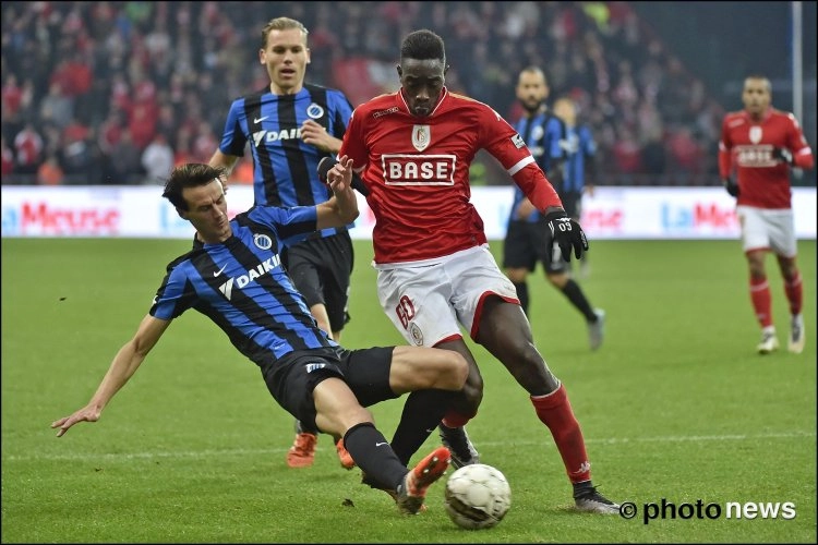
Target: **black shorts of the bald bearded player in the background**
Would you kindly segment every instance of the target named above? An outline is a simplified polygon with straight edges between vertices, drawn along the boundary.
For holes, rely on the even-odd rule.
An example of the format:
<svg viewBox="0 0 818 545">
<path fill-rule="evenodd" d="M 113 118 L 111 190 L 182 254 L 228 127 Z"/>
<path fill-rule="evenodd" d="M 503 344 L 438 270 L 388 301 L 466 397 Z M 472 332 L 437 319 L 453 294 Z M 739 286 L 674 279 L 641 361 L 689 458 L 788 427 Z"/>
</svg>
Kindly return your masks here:
<svg viewBox="0 0 818 545">
<path fill-rule="evenodd" d="M 546 274 L 567 270 L 568 264 L 560 253 L 560 246 L 549 245 L 549 225 L 542 219 L 536 222 L 512 220 L 508 222 L 503 244 L 503 268 L 525 268 L 533 271 L 542 263 Z"/>
</svg>

